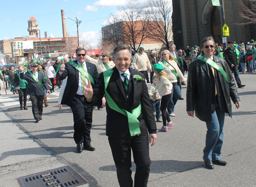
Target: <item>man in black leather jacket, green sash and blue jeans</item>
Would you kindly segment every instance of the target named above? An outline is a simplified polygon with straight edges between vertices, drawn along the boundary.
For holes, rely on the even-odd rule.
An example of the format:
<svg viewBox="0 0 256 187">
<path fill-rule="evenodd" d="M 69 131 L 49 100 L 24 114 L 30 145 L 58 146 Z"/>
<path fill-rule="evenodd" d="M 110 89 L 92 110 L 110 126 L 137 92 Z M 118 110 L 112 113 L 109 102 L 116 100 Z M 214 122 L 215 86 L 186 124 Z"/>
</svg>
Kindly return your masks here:
<svg viewBox="0 0 256 187">
<path fill-rule="evenodd" d="M 225 113 L 230 117 L 231 101 L 239 109 L 241 102 L 234 78 L 225 60 L 214 56 L 215 42 L 212 36 L 201 41 L 201 56 L 189 66 L 187 77 L 187 114 L 206 122 L 207 132 L 203 150 L 204 164 L 226 166 L 221 160 Z"/>
</svg>

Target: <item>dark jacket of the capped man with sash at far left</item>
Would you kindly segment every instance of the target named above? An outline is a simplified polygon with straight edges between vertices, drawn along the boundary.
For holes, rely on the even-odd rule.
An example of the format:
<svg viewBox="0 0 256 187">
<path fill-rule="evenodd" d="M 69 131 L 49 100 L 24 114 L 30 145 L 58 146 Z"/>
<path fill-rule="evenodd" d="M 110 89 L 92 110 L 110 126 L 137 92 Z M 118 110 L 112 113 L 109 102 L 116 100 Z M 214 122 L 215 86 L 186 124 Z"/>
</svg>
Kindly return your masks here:
<svg viewBox="0 0 256 187">
<path fill-rule="evenodd" d="M 42 85 L 44 85 L 46 90 L 49 90 L 44 74 L 38 71 L 37 73 L 38 73 L 38 80 L 42 83 Z M 29 72 L 26 72 L 25 74 L 24 72 L 20 73 L 20 78 L 26 79 L 26 81 L 28 82 L 28 86 L 27 86 L 28 95 L 44 95 L 44 89 L 38 83 L 35 82 L 35 79 L 29 74 Z"/>
</svg>

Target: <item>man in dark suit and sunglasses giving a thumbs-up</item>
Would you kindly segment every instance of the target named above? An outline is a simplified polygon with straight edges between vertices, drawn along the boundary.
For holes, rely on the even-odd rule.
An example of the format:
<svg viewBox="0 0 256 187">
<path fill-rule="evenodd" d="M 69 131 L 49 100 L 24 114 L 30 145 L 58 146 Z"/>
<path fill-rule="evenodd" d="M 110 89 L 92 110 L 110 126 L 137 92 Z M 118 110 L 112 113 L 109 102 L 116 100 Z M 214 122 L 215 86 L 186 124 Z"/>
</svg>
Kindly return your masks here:
<svg viewBox="0 0 256 187">
<path fill-rule="evenodd" d="M 86 49 L 78 47 L 76 49 L 76 61 L 69 61 L 61 64 L 59 68 L 59 79 L 63 80 L 68 76 L 67 85 L 62 96 L 61 104 L 70 106 L 74 118 L 74 140 L 77 144 L 77 151 L 81 153 L 83 149 L 94 151 L 91 146 L 91 128 L 93 118 L 93 108 L 85 104 L 82 92 L 82 77 L 89 76 L 96 84 L 99 77 L 94 64 L 86 62 Z M 73 65 L 71 65 L 73 63 Z M 93 84 L 94 86 L 94 84 Z M 82 145 L 83 144 L 83 145 Z"/>
</svg>

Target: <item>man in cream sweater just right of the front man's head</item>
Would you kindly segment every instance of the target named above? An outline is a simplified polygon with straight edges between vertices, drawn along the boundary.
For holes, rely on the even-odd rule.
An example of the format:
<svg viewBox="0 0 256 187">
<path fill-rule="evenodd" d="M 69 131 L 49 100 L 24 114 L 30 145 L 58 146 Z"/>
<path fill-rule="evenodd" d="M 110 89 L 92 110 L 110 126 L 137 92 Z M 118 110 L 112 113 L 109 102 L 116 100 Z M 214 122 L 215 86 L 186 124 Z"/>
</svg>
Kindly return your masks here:
<svg viewBox="0 0 256 187">
<path fill-rule="evenodd" d="M 150 60 L 148 60 L 148 57 L 146 53 L 144 52 L 144 47 L 139 47 L 139 52 L 137 52 L 133 57 L 133 66 L 136 69 L 136 71 L 141 72 L 145 75 L 146 82 L 150 83 L 150 80 L 148 79 L 148 73 L 147 73 L 147 67 L 150 69 L 150 72 L 152 72 L 152 67 Z"/>
</svg>

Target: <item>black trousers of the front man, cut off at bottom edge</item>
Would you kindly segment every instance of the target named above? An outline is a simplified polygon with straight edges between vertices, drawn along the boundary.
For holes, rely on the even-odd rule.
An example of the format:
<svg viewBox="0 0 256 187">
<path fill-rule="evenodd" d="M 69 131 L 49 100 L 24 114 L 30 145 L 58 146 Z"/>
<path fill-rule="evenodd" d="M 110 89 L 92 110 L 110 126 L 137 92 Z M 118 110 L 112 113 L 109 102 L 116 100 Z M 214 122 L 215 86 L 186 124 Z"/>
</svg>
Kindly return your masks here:
<svg viewBox="0 0 256 187">
<path fill-rule="evenodd" d="M 131 149 L 133 150 L 134 163 L 136 164 L 134 186 L 146 186 L 151 164 L 148 135 L 131 137 L 129 132 L 122 138 L 109 137 L 109 144 L 117 168 L 120 187 L 133 186 Z"/>
</svg>

